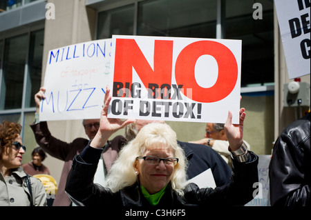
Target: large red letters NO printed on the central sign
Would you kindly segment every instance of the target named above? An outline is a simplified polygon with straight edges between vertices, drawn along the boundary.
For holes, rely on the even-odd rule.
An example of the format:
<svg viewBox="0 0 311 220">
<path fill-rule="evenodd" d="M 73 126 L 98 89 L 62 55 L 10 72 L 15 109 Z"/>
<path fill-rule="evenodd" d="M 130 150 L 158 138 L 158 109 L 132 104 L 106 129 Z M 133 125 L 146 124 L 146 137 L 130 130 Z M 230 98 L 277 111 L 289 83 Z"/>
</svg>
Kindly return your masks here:
<svg viewBox="0 0 311 220">
<path fill-rule="evenodd" d="M 218 78 L 211 88 L 202 88 L 196 82 L 196 61 L 202 55 L 211 55 L 218 63 Z M 114 80 L 132 83 L 132 68 L 135 68 L 144 86 L 149 83 L 171 85 L 173 41 L 156 40 L 154 44 L 153 70 L 134 39 L 116 39 Z M 196 41 L 186 46 L 176 59 L 176 83 L 182 85 L 187 96 L 191 89 L 194 101 L 210 103 L 227 97 L 238 79 L 238 65 L 234 54 L 222 43 Z M 208 79 L 207 79 L 208 80 Z"/>
</svg>

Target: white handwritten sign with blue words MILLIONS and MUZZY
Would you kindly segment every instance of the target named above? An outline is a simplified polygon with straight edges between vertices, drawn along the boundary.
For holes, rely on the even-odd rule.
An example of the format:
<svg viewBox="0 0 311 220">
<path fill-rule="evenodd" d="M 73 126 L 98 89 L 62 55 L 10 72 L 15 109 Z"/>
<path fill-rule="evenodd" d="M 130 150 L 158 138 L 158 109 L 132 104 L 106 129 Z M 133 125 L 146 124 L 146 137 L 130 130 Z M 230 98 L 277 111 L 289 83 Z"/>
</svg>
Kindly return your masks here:
<svg viewBox="0 0 311 220">
<path fill-rule="evenodd" d="M 99 118 L 111 81 L 110 62 L 111 39 L 50 50 L 40 121 Z"/>
</svg>

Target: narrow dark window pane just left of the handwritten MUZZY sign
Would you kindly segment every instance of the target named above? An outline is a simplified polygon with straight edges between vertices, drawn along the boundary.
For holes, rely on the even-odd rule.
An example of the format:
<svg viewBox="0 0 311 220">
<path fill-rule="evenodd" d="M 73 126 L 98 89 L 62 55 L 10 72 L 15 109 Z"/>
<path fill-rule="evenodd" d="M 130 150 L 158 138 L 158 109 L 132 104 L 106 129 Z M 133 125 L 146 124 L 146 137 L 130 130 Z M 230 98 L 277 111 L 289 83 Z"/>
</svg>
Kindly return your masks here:
<svg viewBox="0 0 311 220">
<path fill-rule="evenodd" d="M 25 107 L 35 107 L 35 94 L 41 86 L 42 54 L 44 46 L 44 30 L 31 32 L 28 59 L 28 80 Z"/>
</svg>

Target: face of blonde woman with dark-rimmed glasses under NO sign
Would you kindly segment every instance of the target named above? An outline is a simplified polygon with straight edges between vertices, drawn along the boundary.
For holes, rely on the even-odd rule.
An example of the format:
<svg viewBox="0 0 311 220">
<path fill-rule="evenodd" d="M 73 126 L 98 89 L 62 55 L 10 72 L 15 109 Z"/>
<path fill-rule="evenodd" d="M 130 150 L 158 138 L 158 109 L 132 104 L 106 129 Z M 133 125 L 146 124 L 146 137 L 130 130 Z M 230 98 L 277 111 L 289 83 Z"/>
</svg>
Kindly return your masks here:
<svg viewBox="0 0 311 220">
<path fill-rule="evenodd" d="M 167 149 L 160 146 L 155 146 L 150 148 L 142 154 L 144 156 L 155 156 L 160 158 L 174 157 L 173 153 Z M 174 170 L 174 165 L 164 164 L 164 161 L 160 163 L 149 164 L 144 161 L 144 159 L 138 159 L 135 163 L 135 169 L 138 171 L 140 183 L 149 194 L 155 194 L 167 186 L 167 183 L 171 180 L 171 174 Z"/>
</svg>

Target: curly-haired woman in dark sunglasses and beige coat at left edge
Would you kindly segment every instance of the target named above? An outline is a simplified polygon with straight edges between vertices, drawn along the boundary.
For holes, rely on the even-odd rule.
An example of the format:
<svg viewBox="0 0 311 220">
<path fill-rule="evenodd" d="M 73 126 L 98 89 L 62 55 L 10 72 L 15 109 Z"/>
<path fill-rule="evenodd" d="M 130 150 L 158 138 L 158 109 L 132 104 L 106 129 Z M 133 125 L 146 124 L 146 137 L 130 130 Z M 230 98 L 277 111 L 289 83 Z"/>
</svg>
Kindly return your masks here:
<svg viewBox="0 0 311 220">
<path fill-rule="evenodd" d="M 21 168 L 26 147 L 20 133 L 19 123 L 0 124 L 0 206 L 46 206 L 43 184 Z"/>
</svg>

